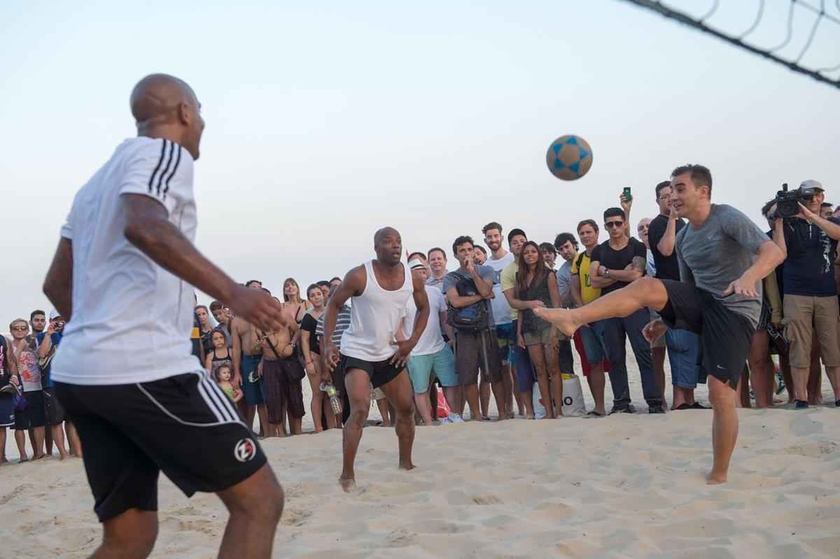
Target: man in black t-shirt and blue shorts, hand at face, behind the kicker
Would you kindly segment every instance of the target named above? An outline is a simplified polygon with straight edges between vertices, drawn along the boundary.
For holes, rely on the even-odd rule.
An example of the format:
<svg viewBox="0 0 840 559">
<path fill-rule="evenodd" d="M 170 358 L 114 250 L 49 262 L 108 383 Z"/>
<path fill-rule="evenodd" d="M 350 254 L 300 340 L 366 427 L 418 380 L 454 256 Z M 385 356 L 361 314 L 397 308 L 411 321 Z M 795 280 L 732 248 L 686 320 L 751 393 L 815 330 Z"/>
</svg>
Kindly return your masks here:
<svg viewBox="0 0 840 559">
<path fill-rule="evenodd" d="M 648 228 L 648 245 L 654 254 L 656 278 L 658 280 L 680 281 L 680 264 L 677 262 L 675 248 L 677 233 L 685 227 L 685 221 L 671 205 L 671 181 L 664 180 L 656 185 L 656 201 L 659 215 L 654 217 Z M 655 311 L 652 313 L 654 316 Z M 706 375 L 701 372 L 700 337 L 688 330 L 669 328 L 660 340 L 668 347 L 671 365 L 671 384 L 674 386 L 674 410 L 702 409 L 694 399 L 694 389 L 698 380 L 706 382 Z"/>
</svg>

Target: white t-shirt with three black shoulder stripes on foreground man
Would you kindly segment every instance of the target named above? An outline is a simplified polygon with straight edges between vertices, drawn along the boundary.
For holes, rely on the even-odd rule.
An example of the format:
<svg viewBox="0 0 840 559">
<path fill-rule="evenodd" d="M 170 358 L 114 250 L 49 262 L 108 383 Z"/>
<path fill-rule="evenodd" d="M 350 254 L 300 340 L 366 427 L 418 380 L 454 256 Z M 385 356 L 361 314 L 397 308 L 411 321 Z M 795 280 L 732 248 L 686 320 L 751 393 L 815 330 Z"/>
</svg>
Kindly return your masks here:
<svg viewBox="0 0 840 559">
<path fill-rule="evenodd" d="M 131 384 L 201 368 L 192 355 L 192 285 L 125 238 L 123 195 L 159 201 L 190 241 L 196 235 L 192 155 L 164 138 L 131 138 L 76 193 L 61 237 L 73 247 L 73 314 L 52 378 Z"/>
</svg>

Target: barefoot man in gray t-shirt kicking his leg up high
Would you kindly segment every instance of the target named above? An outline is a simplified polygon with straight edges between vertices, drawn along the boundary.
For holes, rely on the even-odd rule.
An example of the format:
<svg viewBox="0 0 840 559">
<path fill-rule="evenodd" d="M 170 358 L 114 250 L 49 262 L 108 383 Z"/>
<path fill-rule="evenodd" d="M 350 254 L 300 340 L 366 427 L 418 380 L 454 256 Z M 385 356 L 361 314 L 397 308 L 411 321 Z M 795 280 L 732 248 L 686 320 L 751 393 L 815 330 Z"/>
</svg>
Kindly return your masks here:
<svg viewBox="0 0 840 559">
<path fill-rule="evenodd" d="M 760 282 L 785 255 L 743 213 L 711 203 L 711 172 L 702 165 L 671 173 L 671 201 L 677 217 L 689 222 L 676 239 L 681 281 L 645 277 L 580 309 L 534 312 L 572 334 L 648 306 L 662 316 L 644 328 L 648 342 L 667 327 L 699 334 L 714 410 L 714 463 L 706 483 L 725 483 L 738 438 L 736 389 L 761 311 Z"/>
</svg>

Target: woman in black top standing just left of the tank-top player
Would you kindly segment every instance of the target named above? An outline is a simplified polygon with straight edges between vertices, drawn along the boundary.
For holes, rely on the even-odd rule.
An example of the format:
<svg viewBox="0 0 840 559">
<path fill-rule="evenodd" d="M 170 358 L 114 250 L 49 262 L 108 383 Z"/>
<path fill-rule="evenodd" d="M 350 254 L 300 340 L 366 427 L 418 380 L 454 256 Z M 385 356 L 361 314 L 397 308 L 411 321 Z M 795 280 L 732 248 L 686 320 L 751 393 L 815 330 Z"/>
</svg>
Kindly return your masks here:
<svg viewBox="0 0 840 559">
<path fill-rule="evenodd" d="M 334 429 L 337 425 L 333 408 L 321 391 L 321 347 L 315 333 L 318 328 L 318 319 L 326 310 L 324 305 L 327 301 L 323 298 L 323 291 L 318 284 L 307 287 L 307 299 L 312 303 L 312 309 L 303 315 L 301 321 L 301 350 L 303 353 L 303 368 L 307 371 L 309 386 L 312 388 L 312 402 L 309 405 L 309 410 L 312 413 L 315 432 L 320 433 L 323 431 L 322 411 L 327 417 L 328 429 Z"/>
</svg>

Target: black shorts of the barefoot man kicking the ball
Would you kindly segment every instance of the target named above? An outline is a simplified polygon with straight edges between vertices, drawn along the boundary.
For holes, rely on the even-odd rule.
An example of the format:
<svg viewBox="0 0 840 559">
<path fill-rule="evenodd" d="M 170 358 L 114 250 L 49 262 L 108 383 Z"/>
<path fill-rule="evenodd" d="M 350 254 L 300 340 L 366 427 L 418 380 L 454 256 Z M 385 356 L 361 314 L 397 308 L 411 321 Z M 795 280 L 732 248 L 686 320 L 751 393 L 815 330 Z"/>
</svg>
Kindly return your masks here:
<svg viewBox="0 0 840 559">
<path fill-rule="evenodd" d="M 732 389 L 738 388 L 753 345 L 753 322 L 727 309 L 708 291 L 680 281 L 661 281 L 668 292 L 668 304 L 659 311 L 664 323 L 698 334 L 702 367 L 722 383 L 728 382 Z"/>
</svg>

